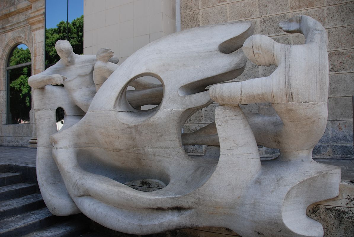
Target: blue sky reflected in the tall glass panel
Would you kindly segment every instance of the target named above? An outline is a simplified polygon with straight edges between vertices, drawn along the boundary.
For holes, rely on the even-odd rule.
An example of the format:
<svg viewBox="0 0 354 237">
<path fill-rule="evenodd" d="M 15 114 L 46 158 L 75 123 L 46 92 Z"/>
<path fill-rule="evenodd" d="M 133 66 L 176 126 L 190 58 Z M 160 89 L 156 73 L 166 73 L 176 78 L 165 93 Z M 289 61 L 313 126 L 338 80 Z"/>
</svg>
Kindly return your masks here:
<svg viewBox="0 0 354 237">
<path fill-rule="evenodd" d="M 84 15 L 84 0 L 69 0 L 69 22 Z M 46 28 L 67 19 L 67 0 L 46 0 Z"/>
</svg>

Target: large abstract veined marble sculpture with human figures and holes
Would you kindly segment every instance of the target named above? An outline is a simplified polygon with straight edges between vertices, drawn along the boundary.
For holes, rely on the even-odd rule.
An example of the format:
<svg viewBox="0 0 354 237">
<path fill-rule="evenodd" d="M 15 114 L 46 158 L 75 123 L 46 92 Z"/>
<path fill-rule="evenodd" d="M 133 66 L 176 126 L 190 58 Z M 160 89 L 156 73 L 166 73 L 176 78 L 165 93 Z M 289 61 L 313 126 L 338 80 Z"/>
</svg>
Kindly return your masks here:
<svg viewBox="0 0 354 237">
<path fill-rule="evenodd" d="M 132 234 L 223 226 L 244 237 L 323 236 L 306 208 L 339 192 L 340 169 L 311 158 L 327 118 L 326 32 L 306 16 L 280 25 L 286 32 L 303 33 L 306 44 L 281 45 L 251 36 L 250 22 L 231 22 L 155 40 L 120 66 L 107 66 L 104 74 L 107 56 L 95 65 L 90 88 L 96 84 L 97 93 L 83 111 L 76 92 L 65 89 L 68 79 L 64 87 L 33 83 L 39 85 L 34 91 L 37 173 L 50 211 L 82 211 L 99 224 Z M 269 78 L 205 90 L 242 73 L 246 57 L 236 51 L 242 44 L 250 60 L 278 68 Z M 94 56 L 89 57 L 80 70 L 92 70 Z M 162 87 L 140 80 L 143 76 L 159 79 Z M 136 90 L 127 92 L 129 85 Z M 215 123 L 182 136 L 184 122 L 211 98 L 221 103 Z M 160 101 L 153 109 L 138 109 Z M 239 107 L 255 102 L 272 102 L 279 117 L 245 115 Z M 57 107 L 65 111 L 58 132 L 53 129 Z M 50 118 L 43 116 L 46 111 Z M 188 156 L 182 147 L 203 142 L 219 144 L 219 156 Z M 261 162 L 257 142 L 279 148 L 280 157 Z M 142 192 L 127 186 L 142 181 L 161 189 Z"/>
</svg>

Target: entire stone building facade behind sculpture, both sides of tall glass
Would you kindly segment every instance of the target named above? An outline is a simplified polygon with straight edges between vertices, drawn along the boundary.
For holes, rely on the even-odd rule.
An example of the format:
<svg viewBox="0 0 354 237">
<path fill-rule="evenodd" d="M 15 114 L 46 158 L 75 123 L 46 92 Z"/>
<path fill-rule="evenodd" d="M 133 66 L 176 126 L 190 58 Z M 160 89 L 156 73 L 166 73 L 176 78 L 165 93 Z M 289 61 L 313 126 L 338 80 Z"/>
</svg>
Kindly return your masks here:
<svg viewBox="0 0 354 237">
<path fill-rule="evenodd" d="M 45 0 L 1 0 L 0 7 L 0 145 L 28 146 L 35 137 L 34 113 L 26 123 L 9 121 L 9 57 L 19 44 L 27 45 L 32 57 L 32 74 L 44 70 Z M 122 63 L 133 52 L 178 30 L 228 21 L 252 21 L 255 34 L 265 34 L 284 44 L 302 44 L 301 34 L 282 32 L 278 23 L 295 15 L 318 20 L 329 36 L 330 88 L 328 122 L 314 156 L 353 156 L 354 94 L 354 2 L 345 0 L 84 0 L 84 54 L 96 54 L 102 47 L 112 49 Z M 271 74 L 275 67 L 256 66 L 247 61 L 245 72 L 235 80 Z M 184 132 L 213 122 L 217 104 L 195 113 Z M 244 106 L 264 113 L 269 104 Z M 9 112 L 10 111 L 10 112 Z M 35 143 L 35 140 L 32 140 Z M 206 146 L 185 147 L 202 153 Z M 276 150 L 260 147 L 262 155 Z"/>
</svg>

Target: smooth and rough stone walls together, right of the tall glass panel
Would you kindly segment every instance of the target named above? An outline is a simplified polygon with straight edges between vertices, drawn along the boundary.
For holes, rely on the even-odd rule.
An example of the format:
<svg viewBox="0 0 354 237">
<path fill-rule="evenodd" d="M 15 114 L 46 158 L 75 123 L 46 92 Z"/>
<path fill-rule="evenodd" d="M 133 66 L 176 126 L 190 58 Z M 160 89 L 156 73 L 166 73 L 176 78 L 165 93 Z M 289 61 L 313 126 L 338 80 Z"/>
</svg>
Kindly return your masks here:
<svg viewBox="0 0 354 237">
<path fill-rule="evenodd" d="M 303 44 L 301 34 L 288 34 L 279 22 L 295 15 L 308 15 L 327 30 L 330 87 L 328 122 L 313 156 L 353 156 L 354 95 L 354 2 L 346 0 L 84 0 L 84 54 L 95 54 L 108 47 L 119 55 L 120 63 L 149 42 L 181 29 L 229 21 L 252 21 L 255 34 L 264 34 L 283 44 Z M 237 81 L 266 77 L 275 66 L 257 66 L 247 61 Z M 184 132 L 195 131 L 214 121 L 213 103 L 184 125 Z M 258 113 L 269 111 L 269 104 L 243 108 Z M 187 152 L 203 153 L 206 146 L 185 147 Z M 259 147 L 261 155 L 274 155 L 275 149 Z"/>
</svg>

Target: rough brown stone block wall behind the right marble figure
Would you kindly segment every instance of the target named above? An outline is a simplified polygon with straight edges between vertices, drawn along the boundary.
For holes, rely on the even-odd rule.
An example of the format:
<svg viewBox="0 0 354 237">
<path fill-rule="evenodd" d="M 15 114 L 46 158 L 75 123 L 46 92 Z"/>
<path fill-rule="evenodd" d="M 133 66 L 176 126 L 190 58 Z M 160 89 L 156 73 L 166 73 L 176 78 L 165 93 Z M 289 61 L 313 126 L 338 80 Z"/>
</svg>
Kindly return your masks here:
<svg viewBox="0 0 354 237">
<path fill-rule="evenodd" d="M 181 0 L 181 29 L 228 21 L 252 21 L 255 34 L 270 36 L 278 43 L 303 44 L 301 34 L 288 34 L 279 29 L 280 21 L 296 15 L 308 15 L 327 30 L 329 44 L 328 122 L 324 136 L 313 156 L 353 156 L 354 95 L 354 1 L 346 0 Z M 247 61 L 245 72 L 236 80 L 270 75 L 275 66 L 257 66 Z M 212 122 L 210 109 L 193 115 L 184 132 L 194 131 Z M 264 113 L 269 104 L 248 105 L 253 112 Z M 207 119 L 205 119 L 205 116 Z M 200 153 L 205 146 L 187 147 L 187 152 Z M 260 148 L 262 155 L 274 155 L 276 150 Z"/>
</svg>

